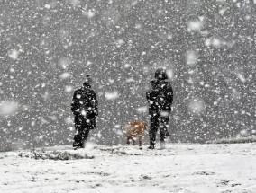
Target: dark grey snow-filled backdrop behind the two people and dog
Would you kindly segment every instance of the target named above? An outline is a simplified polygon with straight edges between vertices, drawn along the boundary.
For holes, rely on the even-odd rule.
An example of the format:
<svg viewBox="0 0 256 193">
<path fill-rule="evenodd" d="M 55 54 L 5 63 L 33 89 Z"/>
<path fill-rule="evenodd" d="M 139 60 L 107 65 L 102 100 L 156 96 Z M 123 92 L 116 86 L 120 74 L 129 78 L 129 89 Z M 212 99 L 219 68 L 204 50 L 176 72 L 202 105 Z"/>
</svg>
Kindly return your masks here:
<svg viewBox="0 0 256 193">
<path fill-rule="evenodd" d="M 171 142 L 255 136 L 253 0 L 0 0 L 0 150 L 71 145 L 70 102 L 87 74 L 97 144 L 148 121 L 145 92 L 164 66 Z"/>
</svg>

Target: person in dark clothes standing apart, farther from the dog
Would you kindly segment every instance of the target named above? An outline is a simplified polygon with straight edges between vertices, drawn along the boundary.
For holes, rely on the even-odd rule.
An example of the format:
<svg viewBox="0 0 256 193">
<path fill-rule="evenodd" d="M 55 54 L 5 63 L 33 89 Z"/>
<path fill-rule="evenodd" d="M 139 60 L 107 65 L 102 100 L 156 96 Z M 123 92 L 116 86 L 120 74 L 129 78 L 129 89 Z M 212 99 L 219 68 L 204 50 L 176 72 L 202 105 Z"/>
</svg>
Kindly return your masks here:
<svg viewBox="0 0 256 193">
<path fill-rule="evenodd" d="M 74 114 L 75 128 L 77 130 L 73 143 L 75 149 L 85 147 L 89 131 L 96 127 L 98 101 L 96 99 L 96 92 L 91 88 L 91 83 L 92 79 L 87 75 L 83 86 L 74 92 L 71 103 L 71 110 Z"/>
</svg>

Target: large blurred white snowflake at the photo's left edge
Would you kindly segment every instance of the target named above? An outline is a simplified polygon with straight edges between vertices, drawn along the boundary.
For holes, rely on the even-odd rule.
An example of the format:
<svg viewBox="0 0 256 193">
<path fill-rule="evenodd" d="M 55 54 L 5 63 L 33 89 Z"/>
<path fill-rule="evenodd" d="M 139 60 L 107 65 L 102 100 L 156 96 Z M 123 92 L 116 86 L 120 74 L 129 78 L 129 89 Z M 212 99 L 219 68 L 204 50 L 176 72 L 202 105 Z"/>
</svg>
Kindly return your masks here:
<svg viewBox="0 0 256 193">
<path fill-rule="evenodd" d="M 12 116 L 18 111 L 18 101 L 1 101 L 0 102 L 0 115 L 2 117 Z"/>
</svg>

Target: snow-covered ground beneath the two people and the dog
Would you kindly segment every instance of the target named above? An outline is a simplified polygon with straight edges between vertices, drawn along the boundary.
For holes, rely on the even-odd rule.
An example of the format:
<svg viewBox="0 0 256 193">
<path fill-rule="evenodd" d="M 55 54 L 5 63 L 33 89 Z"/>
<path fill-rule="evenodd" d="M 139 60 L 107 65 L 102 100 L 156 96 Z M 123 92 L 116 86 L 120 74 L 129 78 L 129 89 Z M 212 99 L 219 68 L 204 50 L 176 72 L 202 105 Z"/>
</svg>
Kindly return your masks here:
<svg viewBox="0 0 256 193">
<path fill-rule="evenodd" d="M 29 151 L 0 153 L 0 192 L 255 193 L 256 144 L 169 144 L 165 150 L 138 146 L 50 147 L 87 159 L 29 158 Z M 39 151 L 40 152 L 40 151 Z M 67 159 L 72 156 L 68 156 Z"/>
</svg>

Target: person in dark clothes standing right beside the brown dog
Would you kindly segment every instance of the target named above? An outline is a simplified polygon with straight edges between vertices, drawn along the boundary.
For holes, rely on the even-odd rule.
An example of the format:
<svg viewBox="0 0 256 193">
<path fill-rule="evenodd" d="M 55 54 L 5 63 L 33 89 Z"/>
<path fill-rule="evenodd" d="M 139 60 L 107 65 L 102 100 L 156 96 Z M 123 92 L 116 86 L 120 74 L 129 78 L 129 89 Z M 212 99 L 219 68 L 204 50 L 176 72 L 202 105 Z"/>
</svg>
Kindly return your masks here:
<svg viewBox="0 0 256 193">
<path fill-rule="evenodd" d="M 164 139 L 166 136 L 169 136 L 167 127 L 173 101 L 173 91 L 165 69 L 157 69 L 155 80 L 151 81 L 151 90 L 146 93 L 146 97 L 149 102 L 151 118 L 149 149 L 154 149 L 158 128 L 160 128 L 160 147 L 164 149 Z"/>
</svg>

